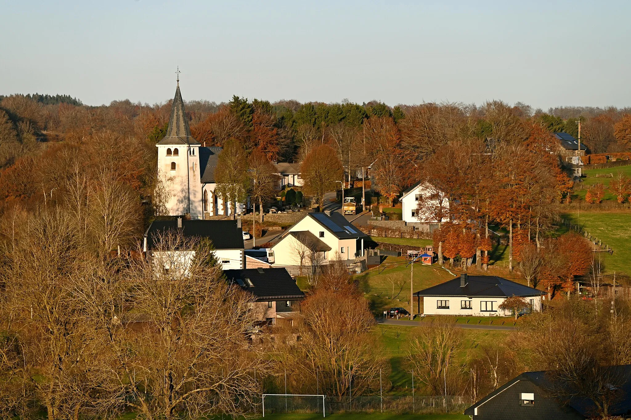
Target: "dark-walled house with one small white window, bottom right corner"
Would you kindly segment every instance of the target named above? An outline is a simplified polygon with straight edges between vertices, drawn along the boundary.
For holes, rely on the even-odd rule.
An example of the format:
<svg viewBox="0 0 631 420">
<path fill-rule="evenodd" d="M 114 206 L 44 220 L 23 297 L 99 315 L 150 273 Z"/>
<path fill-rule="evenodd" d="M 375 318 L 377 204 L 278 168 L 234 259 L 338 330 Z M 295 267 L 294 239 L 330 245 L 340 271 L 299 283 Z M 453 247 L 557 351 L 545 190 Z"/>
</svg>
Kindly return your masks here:
<svg viewBox="0 0 631 420">
<path fill-rule="evenodd" d="M 608 373 L 616 378 L 618 399 L 611 405 L 610 416 L 631 418 L 631 365 L 611 366 Z M 464 414 L 474 420 L 574 420 L 600 417 L 593 400 L 573 397 L 567 404 L 555 399 L 555 388 L 545 371 L 526 372 L 497 388 L 471 405 Z"/>
</svg>

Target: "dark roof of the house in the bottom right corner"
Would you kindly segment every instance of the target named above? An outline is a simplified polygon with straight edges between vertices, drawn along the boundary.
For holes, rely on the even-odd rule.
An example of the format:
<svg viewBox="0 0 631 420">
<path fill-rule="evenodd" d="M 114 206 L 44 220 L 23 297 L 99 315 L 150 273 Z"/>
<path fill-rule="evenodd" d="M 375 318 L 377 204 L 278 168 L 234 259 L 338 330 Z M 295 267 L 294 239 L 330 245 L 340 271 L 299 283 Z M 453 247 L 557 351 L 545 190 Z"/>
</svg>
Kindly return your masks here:
<svg viewBox="0 0 631 420">
<path fill-rule="evenodd" d="M 629 414 L 631 412 L 631 365 L 610 366 L 607 368 L 607 371 L 622 383 L 620 387 L 622 399 L 617 400 L 610 406 L 608 410 L 609 414 L 611 416 Z M 542 395 L 546 395 L 554 388 L 554 383 L 550 381 L 549 375 L 546 375 L 546 373 L 547 371 L 524 372 L 471 405 L 471 407 L 464 411 L 464 414 L 475 416 L 476 407 L 480 407 L 480 405 L 492 399 L 495 395 L 500 394 L 500 392 L 504 392 L 518 381 L 529 381 L 540 388 Z M 567 405 L 570 409 L 573 409 L 584 417 L 591 418 L 596 412 L 596 405 L 592 400 L 587 398 L 574 397 L 569 400 Z"/>
</svg>

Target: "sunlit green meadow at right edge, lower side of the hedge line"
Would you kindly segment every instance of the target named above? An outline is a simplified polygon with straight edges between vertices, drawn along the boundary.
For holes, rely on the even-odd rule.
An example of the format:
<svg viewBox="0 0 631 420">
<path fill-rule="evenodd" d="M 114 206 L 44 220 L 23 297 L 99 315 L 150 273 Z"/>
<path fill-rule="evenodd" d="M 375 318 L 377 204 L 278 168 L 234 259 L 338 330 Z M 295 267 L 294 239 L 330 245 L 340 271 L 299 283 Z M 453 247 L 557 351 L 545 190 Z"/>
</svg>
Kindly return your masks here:
<svg viewBox="0 0 631 420">
<path fill-rule="evenodd" d="M 631 274 L 631 213 L 574 211 L 563 214 L 563 218 L 613 248 L 612 255 L 600 254 L 604 256 L 606 272 Z"/>
</svg>

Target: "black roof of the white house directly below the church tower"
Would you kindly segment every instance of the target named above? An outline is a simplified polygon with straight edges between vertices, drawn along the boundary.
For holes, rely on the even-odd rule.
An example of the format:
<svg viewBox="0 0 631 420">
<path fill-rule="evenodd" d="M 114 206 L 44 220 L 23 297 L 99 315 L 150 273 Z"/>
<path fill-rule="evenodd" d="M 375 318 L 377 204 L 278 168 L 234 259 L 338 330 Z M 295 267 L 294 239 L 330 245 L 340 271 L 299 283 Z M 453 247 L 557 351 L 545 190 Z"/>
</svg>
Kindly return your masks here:
<svg viewBox="0 0 631 420">
<path fill-rule="evenodd" d="M 237 227 L 236 220 L 182 220 L 181 230 L 177 227 L 177 218 L 154 220 L 144 236 L 147 249 L 153 248 L 153 242 L 159 235 L 168 231 L 181 232 L 185 238 L 208 238 L 215 249 L 243 249 L 243 233 Z"/>
</svg>

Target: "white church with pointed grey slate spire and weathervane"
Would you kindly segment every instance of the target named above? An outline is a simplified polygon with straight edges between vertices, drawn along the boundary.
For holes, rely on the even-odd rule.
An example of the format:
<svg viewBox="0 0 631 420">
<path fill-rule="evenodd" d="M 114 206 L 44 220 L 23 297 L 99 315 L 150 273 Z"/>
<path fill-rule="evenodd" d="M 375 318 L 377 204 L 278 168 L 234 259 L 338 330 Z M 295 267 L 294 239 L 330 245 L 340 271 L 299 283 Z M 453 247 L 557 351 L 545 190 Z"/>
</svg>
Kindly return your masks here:
<svg viewBox="0 0 631 420">
<path fill-rule="evenodd" d="M 185 215 L 191 219 L 209 219 L 212 216 L 235 213 L 231 203 L 215 194 L 215 168 L 221 148 L 203 147 L 191 136 L 179 79 L 167 135 L 156 147 L 158 188 L 155 200 L 160 213 L 169 216 Z M 244 203 L 237 203 L 237 214 L 244 209 Z"/>
</svg>

